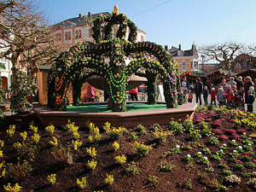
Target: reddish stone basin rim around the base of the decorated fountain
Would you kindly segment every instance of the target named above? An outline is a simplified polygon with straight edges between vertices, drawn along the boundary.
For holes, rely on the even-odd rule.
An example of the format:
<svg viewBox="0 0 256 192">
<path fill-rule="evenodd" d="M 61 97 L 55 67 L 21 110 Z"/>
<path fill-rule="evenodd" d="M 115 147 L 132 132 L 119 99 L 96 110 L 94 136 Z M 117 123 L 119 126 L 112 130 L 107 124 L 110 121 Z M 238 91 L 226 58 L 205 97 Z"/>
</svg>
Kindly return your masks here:
<svg viewBox="0 0 256 192">
<path fill-rule="evenodd" d="M 112 113 L 81 113 L 81 112 L 67 112 L 54 111 L 47 107 L 33 108 L 38 118 L 44 125 L 61 126 L 67 124 L 68 119 L 75 122 L 75 125 L 80 127 L 85 126 L 85 122 L 90 122 L 102 127 L 105 122 L 110 122 L 113 126 L 134 127 L 137 124 L 153 125 L 155 123 L 160 125 L 167 125 L 172 118 L 178 119 L 193 119 L 196 103 L 184 103 L 179 108 L 166 108 L 148 111 L 136 112 L 112 112 Z"/>
</svg>

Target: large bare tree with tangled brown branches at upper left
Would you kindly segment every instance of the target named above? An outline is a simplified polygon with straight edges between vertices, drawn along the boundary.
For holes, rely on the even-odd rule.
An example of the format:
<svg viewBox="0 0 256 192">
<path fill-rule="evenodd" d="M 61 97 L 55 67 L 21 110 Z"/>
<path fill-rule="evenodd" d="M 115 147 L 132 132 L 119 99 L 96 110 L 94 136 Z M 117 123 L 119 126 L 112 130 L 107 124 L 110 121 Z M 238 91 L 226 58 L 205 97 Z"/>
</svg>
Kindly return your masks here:
<svg viewBox="0 0 256 192">
<path fill-rule="evenodd" d="M 26 63 L 30 72 L 38 61 L 51 61 L 61 50 L 55 45 L 54 32 L 36 4 L 26 0 L 12 2 L 1 7 L 0 57 L 12 61 L 15 76 L 20 64 Z"/>
</svg>

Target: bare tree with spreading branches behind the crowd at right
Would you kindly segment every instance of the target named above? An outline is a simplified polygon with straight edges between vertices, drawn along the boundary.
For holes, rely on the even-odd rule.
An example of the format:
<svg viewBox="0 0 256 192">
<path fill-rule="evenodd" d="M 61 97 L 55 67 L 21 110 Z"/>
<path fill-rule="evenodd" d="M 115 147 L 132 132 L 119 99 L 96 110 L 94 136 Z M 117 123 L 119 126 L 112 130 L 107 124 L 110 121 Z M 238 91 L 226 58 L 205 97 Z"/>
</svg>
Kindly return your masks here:
<svg viewBox="0 0 256 192">
<path fill-rule="evenodd" d="M 221 67 L 230 69 L 230 63 L 238 55 L 239 50 L 243 47 L 242 44 L 236 43 L 224 43 L 224 44 L 212 44 L 199 48 L 201 55 L 207 57 L 208 60 L 215 60 L 220 63 Z"/>
</svg>

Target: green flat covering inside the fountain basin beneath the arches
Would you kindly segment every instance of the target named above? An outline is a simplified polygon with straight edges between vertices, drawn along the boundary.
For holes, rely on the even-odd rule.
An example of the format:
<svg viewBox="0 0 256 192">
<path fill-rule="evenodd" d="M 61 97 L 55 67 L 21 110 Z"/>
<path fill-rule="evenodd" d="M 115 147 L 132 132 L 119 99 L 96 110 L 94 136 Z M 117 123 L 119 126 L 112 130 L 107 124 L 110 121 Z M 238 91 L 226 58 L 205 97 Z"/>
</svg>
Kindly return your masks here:
<svg viewBox="0 0 256 192">
<path fill-rule="evenodd" d="M 155 109 L 165 109 L 166 104 L 148 105 L 146 103 L 128 103 L 127 111 L 145 111 Z M 67 111 L 85 112 L 85 113 L 108 113 L 112 112 L 108 109 L 107 104 L 84 105 L 84 106 L 67 106 Z"/>
</svg>

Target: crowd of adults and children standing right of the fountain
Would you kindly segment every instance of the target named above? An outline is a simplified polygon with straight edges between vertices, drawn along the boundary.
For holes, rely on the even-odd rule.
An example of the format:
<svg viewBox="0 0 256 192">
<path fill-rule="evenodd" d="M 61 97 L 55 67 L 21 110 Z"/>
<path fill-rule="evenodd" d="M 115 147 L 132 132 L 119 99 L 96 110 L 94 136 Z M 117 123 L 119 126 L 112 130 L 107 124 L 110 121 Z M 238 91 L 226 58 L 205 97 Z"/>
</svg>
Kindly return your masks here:
<svg viewBox="0 0 256 192">
<path fill-rule="evenodd" d="M 255 100 L 254 84 L 251 77 L 230 77 L 228 81 L 222 79 L 222 83 L 219 84 L 218 90 L 212 87 L 208 89 L 207 85 L 203 85 L 200 78 L 195 80 L 195 85 L 189 85 L 186 77 L 183 77 L 181 83 L 181 89 L 183 90 L 183 98 L 185 102 L 192 102 L 193 92 L 195 92 L 195 102 L 202 105 L 201 95 L 203 96 L 204 105 L 214 106 L 226 106 L 227 108 L 235 108 L 246 110 L 253 113 L 253 102 Z M 210 98 L 210 103 L 208 99 Z"/>
</svg>

